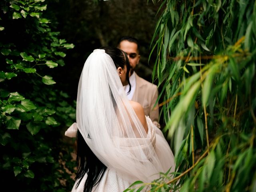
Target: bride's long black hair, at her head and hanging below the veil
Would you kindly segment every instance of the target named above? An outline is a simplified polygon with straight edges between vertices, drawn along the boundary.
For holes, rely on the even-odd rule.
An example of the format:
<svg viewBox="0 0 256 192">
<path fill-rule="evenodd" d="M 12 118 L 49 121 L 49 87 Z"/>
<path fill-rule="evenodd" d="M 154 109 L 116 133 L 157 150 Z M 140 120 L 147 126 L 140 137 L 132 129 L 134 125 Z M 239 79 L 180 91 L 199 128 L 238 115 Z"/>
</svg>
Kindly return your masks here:
<svg viewBox="0 0 256 192">
<path fill-rule="evenodd" d="M 121 67 L 123 69 L 126 66 L 127 68 L 126 80 L 131 89 L 131 85 L 129 81 L 130 63 L 126 53 L 118 48 L 102 47 L 100 49 L 104 49 L 106 54 L 108 54 L 112 58 L 116 68 Z M 129 89 L 129 92 L 130 92 L 130 89 Z M 88 135 L 88 137 L 90 136 Z M 77 131 L 76 142 L 77 142 L 76 161 L 78 165 L 78 171 L 76 174 L 76 180 L 78 180 L 78 183 L 76 185 L 76 188 L 79 186 L 84 175 L 87 174 L 86 182 L 84 184 L 84 192 L 91 192 L 92 188 L 100 182 L 107 167 L 92 152 L 92 150 L 86 144 L 79 130 Z"/>
</svg>

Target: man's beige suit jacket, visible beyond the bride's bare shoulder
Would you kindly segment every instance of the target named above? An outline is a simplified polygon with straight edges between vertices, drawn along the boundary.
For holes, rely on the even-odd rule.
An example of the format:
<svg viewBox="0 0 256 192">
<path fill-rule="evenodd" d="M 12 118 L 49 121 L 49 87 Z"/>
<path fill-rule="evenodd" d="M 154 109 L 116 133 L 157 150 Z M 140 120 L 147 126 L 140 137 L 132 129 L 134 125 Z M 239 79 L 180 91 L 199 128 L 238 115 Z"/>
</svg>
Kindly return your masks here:
<svg viewBox="0 0 256 192">
<path fill-rule="evenodd" d="M 158 128 L 160 128 L 160 124 L 158 123 L 158 103 L 156 104 L 155 110 L 153 110 L 154 104 L 156 103 L 156 100 L 158 98 L 157 86 L 139 77 L 136 73 L 135 77 L 136 88 L 132 97 L 132 101 L 140 103 L 144 109 L 145 115 L 149 116 L 152 122 Z"/>
</svg>

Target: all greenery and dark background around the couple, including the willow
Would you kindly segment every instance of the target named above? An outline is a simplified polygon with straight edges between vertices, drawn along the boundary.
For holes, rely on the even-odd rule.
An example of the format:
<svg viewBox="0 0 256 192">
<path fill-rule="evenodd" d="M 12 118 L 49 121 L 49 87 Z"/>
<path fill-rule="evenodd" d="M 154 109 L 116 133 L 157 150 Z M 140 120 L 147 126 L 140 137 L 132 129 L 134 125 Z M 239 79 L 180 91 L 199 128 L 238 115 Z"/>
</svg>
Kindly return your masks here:
<svg viewBox="0 0 256 192">
<path fill-rule="evenodd" d="M 63 134 L 75 121 L 82 66 L 128 34 L 141 40 L 138 74 L 156 77 L 177 170 L 127 191 L 256 191 L 255 1 L 3 0 L 0 8 L 1 186 L 71 190 L 74 140 Z"/>
</svg>

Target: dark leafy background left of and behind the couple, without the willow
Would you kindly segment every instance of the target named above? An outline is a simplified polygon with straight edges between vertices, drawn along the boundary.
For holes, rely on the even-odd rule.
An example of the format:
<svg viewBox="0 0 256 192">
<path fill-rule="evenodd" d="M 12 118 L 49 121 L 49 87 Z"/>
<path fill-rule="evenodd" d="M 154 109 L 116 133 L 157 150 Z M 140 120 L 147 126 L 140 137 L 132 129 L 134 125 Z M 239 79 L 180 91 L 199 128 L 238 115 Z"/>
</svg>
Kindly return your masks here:
<svg viewBox="0 0 256 192">
<path fill-rule="evenodd" d="M 64 130 L 75 121 L 84 61 L 95 48 L 136 36 L 142 45 L 137 71 L 150 80 L 157 10 L 138 0 L 0 2 L 2 190 L 71 190 L 74 140 L 65 138 Z"/>
</svg>

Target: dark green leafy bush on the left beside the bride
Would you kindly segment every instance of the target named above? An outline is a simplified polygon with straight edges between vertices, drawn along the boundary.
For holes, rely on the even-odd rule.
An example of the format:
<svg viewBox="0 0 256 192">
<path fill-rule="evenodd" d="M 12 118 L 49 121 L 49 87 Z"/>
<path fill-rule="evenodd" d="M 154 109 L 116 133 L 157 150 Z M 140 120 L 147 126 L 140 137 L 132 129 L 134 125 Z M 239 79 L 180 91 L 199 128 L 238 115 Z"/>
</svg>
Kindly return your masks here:
<svg viewBox="0 0 256 192">
<path fill-rule="evenodd" d="M 44 0 L 4 0 L 0 8 L 0 183 L 10 191 L 70 190 L 65 166 L 74 163 L 61 131 L 75 121 L 75 103 L 54 86 L 52 68 L 74 45 L 52 31 Z"/>
</svg>

